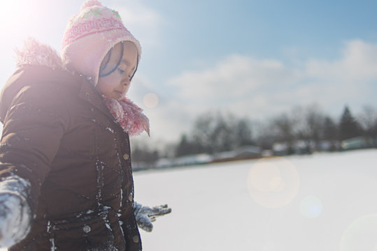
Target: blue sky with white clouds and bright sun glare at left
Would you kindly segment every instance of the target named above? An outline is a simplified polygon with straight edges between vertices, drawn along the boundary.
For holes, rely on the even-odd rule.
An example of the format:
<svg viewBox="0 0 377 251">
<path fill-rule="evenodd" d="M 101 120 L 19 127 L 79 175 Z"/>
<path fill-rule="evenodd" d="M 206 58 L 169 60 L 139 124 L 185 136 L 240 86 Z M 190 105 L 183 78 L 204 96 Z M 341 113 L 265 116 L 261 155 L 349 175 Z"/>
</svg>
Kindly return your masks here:
<svg viewBox="0 0 377 251">
<path fill-rule="evenodd" d="M 59 51 L 81 3 L 5 3 L 1 83 L 27 36 Z M 315 102 L 336 119 L 346 104 L 355 114 L 377 108 L 376 0 L 102 3 L 120 12 L 143 47 L 129 98 L 150 117 L 153 140 L 178 139 L 210 110 L 264 120 Z M 148 93 L 157 106 L 143 102 Z"/>
</svg>

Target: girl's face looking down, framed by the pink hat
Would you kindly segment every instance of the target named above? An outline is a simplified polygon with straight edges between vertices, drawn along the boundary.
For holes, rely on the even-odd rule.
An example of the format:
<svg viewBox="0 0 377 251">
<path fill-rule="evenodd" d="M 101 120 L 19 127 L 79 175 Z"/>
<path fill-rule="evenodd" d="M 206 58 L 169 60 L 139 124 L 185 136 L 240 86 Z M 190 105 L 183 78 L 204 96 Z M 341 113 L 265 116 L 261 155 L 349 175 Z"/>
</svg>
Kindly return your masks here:
<svg viewBox="0 0 377 251">
<path fill-rule="evenodd" d="M 97 90 L 102 95 L 107 96 L 108 98 L 114 98 L 116 100 L 121 100 L 125 97 L 129 89 L 131 77 L 134 75 L 138 63 L 138 52 L 134 43 L 127 41 L 124 42 L 123 45 L 123 55 L 121 55 L 121 43 L 118 43 L 113 47 L 110 55 L 106 54 L 100 68 L 102 69 L 105 67 L 103 69 L 104 73 L 111 72 L 111 70 L 117 66 L 120 57 L 122 57 L 122 61 L 120 61 L 119 66 L 113 73 L 105 77 L 99 77 L 96 86 Z M 107 65 L 106 62 L 108 62 Z"/>
</svg>

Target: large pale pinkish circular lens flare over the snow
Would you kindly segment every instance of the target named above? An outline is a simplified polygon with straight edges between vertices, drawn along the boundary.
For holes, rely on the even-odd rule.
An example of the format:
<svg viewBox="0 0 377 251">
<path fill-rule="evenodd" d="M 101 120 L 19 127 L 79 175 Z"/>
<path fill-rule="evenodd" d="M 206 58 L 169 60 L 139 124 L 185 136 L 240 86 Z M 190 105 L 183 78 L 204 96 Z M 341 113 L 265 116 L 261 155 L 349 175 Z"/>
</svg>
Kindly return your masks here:
<svg viewBox="0 0 377 251">
<path fill-rule="evenodd" d="M 296 197 L 298 190 L 297 169 L 285 158 L 258 160 L 248 174 L 248 191 L 252 199 L 267 208 L 286 206 Z"/>
</svg>

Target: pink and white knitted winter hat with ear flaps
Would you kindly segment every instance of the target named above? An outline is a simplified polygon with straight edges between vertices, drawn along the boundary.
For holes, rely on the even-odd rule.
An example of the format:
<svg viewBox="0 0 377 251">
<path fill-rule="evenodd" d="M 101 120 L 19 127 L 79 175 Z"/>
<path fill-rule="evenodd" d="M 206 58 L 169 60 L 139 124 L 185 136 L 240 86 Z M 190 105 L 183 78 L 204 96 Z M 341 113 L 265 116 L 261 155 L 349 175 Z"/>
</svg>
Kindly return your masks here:
<svg viewBox="0 0 377 251">
<path fill-rule="evenodd" d="M 131 41 L 138 50 L 138 40 L 125 28 L 117 11 L 98 0 L 87 0 L 80 12 L 69 20 L 62 41 L 62 61 L 69 70 L 87 75 L 97 84 L 99 67 L 106 53 L 121 41 Z"/>
</svg>

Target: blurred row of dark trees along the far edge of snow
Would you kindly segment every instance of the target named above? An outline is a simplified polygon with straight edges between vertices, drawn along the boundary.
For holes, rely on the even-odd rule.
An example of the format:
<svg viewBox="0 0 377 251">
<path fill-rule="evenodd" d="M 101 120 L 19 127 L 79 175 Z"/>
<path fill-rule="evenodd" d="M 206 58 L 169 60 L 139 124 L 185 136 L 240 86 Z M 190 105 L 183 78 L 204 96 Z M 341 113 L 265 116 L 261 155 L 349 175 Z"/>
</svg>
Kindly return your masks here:
<svg viewBox="0 0 377 251">
<path fill-rule="evenodd" d="M 339 151 L 341 142 L 355 137 L 362 137 L 365 147 L 376 147 L 376 109 L 364 107 L 361 114 L 353 116 L 350 108 L 345 106 L 340 119 L 334 119 L 317 105 L 311 105 L 294 107 L 290 113 L 263 122 L 230 113 L 206 112 L 194 120 L 190 132 L 181 135 L 179 142 L 166 149 L 135 144 L 133 160 L 153 162 L 161 157 L 213 154 L 250 145 L 270 150 L 276 144 L 285 146 L 285 154 L 293 154 L 297 153 L 297 142 L 304 153 Z"/>
</svg>

